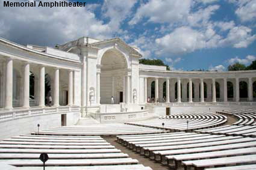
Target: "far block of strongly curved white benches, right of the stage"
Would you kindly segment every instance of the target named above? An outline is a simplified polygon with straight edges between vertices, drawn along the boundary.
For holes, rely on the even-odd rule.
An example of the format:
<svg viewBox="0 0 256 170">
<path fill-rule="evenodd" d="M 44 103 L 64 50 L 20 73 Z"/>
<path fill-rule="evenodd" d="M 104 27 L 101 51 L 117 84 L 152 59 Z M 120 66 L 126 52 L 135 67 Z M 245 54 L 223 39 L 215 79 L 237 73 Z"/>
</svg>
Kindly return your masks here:
<svg viewBox="0 0 256 170">
<path fill-rule="evenodd" d="M 161 117 L 157 120 L 137 121 L 136 123 L 126 123 L 130 125 L 152 127 L 157 129 L 172 130 L 172 132 L 185 130 L 192 131 L 197 129 L 206 129 L 225 124 L 227 117 L 225 115 L 204 112 L 200 114 L 178 114 Z M 163 126 L 164 123 L 164 126 Z"/>
</svg>

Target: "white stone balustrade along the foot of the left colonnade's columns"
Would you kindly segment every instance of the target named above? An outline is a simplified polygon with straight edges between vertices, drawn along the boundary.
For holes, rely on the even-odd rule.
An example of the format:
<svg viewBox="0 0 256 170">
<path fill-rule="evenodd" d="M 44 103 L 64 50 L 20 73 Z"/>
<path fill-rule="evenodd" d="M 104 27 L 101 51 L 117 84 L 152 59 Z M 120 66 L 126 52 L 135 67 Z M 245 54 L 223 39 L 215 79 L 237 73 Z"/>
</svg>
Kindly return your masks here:
<svg viewBox="0 0 256 170">
<path fill-rule="evenodd" d="M 2 110 L 0 111 L 0 122 L 48 114 L 63 114 L 67 112 L 80 112 L 80 106 L 14 109 L 12 111 Z"/>
</svg>

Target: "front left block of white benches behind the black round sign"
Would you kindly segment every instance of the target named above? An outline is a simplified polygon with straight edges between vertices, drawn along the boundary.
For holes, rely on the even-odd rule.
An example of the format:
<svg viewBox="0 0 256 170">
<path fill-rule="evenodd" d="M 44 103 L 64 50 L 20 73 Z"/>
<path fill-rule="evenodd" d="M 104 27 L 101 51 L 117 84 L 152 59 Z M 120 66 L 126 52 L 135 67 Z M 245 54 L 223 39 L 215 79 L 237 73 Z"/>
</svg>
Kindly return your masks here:
<svg viewBox="0 0 256 170">
<path fill-rule="evenodd" d="M 100 136 L 20 135 L 0 142 L 0 167 L 7 170 L 42 169 L 40 153 L 47 153 L 48 170 L 152 170 L 139 165 Z M 5 165 L 5 166 L 3 166 Z"/>
</svg>

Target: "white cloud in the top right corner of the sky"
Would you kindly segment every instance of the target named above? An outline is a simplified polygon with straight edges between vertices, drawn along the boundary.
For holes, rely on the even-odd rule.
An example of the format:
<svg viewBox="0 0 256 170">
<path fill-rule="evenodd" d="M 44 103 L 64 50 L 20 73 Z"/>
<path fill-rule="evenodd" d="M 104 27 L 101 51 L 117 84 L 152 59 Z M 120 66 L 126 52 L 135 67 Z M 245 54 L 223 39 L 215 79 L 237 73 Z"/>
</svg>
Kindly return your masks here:
<svg viewBox="0 0 256 170">
<path fill-rule="evenodd" d="M 256 19 L 256 1 L 255 0 L 229 0 L 237 5 L 236 14 L 242 22 L 248 22 Z"/>
</svg>

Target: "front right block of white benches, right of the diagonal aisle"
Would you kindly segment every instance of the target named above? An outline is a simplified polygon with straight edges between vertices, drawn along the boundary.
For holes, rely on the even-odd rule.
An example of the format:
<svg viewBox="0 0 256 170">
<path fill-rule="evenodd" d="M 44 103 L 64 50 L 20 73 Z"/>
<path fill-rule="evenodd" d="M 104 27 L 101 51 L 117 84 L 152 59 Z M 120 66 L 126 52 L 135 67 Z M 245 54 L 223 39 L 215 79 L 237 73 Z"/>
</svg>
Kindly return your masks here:
<svg viewBox="0 0 256 170">
<path fill-rule="evenodd" d="M 174 132 L 117 136 L 117 142 L 175 169 L 256 169 L 255 138 Z"/>
</svg>

